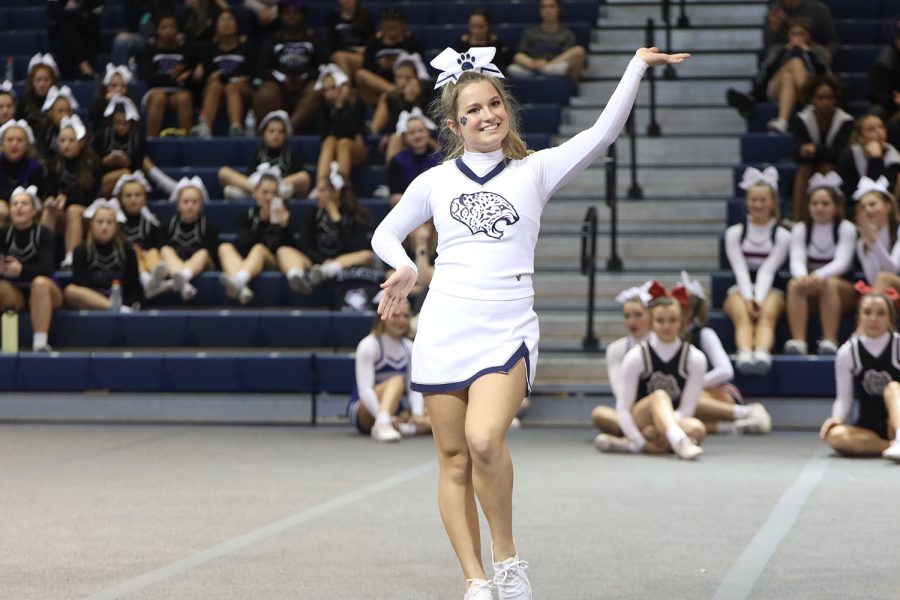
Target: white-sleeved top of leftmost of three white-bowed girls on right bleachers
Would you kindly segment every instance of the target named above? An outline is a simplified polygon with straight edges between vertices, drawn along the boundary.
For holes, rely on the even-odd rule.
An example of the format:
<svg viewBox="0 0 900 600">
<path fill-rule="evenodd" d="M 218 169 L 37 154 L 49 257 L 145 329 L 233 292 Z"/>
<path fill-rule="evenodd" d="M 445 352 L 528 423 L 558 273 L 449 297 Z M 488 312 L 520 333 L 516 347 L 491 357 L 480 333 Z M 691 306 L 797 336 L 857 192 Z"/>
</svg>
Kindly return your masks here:
<svg viewBox="0 0 900 600">
<path fill-rule="evenodd" d="M 725 230 L 725 255 L 745 300 L 752 299 L 762 304 L 766 299 L 778 269 L 787 259 L 790 242 L 791 234 L 779 227 L 775 219 L 765 225 L 757 225 L 747 219 L 746 223 L 738 223 Z M 753 270 L 756 271 L 755 281 L 750 275 Z"/>
</svg>

